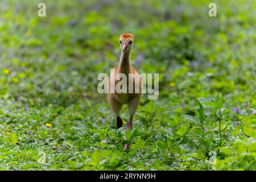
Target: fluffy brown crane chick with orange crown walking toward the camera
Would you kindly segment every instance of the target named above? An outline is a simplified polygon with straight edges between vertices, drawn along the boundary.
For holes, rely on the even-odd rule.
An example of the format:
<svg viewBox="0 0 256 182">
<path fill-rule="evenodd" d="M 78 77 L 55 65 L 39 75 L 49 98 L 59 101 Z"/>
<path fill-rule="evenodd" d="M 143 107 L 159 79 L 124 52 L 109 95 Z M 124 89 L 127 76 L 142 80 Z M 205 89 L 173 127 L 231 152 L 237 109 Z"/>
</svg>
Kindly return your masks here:
<svg viewBox="0 0 256 182">
<path fill-rule="evenodd" d="M 130 118 L 129 118 L 129 121 L 126 123 L 126 131 L 127 131 L 133 128 L 133 115 L 135 114 L 137 107 L 139 105 L 139 101 L 141 99 L 142 81 L 138 75 L 138 72 L 130 65 L 131 48 L 133 47 L 133 43 L 134 43 L 133 35 L 129 33 L 123 33 L 119 38 L 119 43 L 122 51 L 121 51 L 118 67 L 114 68 L 114 74 L 113 72 L 110 74 L 108 100 L 109 100 L 110 108 L 112 109 L 113 113 L 117 117 L 117 128 L 122 127 L 123 125 L 123 121 L 119 115 L 122 109 L 122 106 L 124 104 L 128 105 Z M 114 91 L 114 93 L 110 93 L 110 82 L 114 81 L 115 85 L 117 85 L 118 82 L 121 81 L 121 80 L 118 80 L 116 77 L 118 73 L 123 73 L 126 75 L 126 78 L 127 78 L 126 93 L 117 93 L 116 90 Z M 129 73 L 134 74 L 133 75 L 134 77 L 130 80 L 129 80 Z M 132 93 L 129 93 L 129 85 L 131 84 L 130 81 L 133 81 Z M 135 92 L 135 86 L 136 86 L 135 83 L 137 83 L 137 85 L 139 84 L 138 86 L 139 89 L 137 89 L 137 92 Z"/>
</svg>

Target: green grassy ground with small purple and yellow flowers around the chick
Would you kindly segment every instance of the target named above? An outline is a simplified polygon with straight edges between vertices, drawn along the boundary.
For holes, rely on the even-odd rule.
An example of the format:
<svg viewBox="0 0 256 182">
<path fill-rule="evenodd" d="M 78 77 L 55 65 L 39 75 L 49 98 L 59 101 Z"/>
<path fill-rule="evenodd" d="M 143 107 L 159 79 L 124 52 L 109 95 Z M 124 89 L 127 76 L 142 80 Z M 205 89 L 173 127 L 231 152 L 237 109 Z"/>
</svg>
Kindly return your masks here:
<svg viewBox="0 0 256 182">
<path fill-rule="evenodd" d="M 1 170 L 256 169 L 255 1 L 39 2 L 0 2 Z M 122 32 L 160 75 L 131 133 L 97 93 Z"/>
</svg>

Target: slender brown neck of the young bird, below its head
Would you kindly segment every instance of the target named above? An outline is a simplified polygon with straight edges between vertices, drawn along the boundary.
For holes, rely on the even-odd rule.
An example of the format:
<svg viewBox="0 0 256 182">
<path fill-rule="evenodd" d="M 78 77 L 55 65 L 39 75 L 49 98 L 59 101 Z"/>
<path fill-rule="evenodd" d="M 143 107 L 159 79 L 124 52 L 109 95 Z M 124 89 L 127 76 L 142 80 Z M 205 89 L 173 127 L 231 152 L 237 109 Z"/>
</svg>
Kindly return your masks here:
<svg viewBox="0 0 256 182">
<path fill-rule="evenodd" d="M 119 73 L 127 74 L 130 72 L 130 57 L 131 57 L 131 51 L 125 51 L 121 53 L 119 65 L 118 65 Z"/>
</svg>

